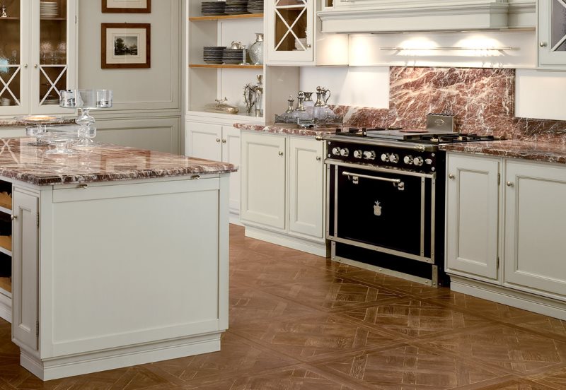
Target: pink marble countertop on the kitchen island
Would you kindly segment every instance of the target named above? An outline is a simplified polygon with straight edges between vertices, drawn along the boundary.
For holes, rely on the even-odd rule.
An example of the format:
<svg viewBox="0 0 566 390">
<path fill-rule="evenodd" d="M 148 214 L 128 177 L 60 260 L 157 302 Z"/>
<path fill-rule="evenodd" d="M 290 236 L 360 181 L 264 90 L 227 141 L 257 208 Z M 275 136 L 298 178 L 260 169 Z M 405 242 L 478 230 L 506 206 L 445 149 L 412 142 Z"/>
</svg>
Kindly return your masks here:
<svg viewBox="0 0 566 390">
<path fill-rule="evenodd" d="M 153 179 L 234 172 L 228 162 L 108 143 L 74 155 L 47 155 L 52 146 L 29 146 L 34 138 L 0 138 L 0 176 L 36 185 Z"/>
</svg>

